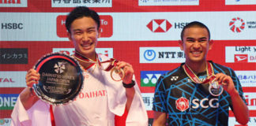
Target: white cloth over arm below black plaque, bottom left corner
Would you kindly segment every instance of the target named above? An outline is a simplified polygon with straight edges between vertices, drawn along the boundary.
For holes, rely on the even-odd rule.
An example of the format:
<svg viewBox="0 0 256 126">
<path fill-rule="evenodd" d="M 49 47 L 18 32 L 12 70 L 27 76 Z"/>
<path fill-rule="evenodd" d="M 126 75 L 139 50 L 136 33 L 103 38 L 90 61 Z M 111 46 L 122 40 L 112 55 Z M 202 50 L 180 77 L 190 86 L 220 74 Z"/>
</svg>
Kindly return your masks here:
<svg viewBox="0 0 256 126">
<path fill-rule="evenodd" d="M 11 126 L 51 126 L 50 106 L 38 100 L 30 109 L 24 109 L 20 97 L 11 114 Z"/>
</svg>

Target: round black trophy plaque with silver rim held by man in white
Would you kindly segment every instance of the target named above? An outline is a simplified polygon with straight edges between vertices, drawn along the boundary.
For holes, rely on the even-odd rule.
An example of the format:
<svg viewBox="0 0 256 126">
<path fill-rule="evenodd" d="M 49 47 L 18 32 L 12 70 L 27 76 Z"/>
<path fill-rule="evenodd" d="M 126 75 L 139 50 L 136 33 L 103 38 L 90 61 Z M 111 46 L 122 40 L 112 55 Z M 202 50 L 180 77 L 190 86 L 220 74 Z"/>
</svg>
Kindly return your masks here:
<svg viewBox="0 0 256 126">
<path fill-rule="evenodd" d="M 82 69 L 69 55 L 61 53 L 47 54 L 34 66 L 40 73 L 38 84 L 33 88 L 36 95 L 51 105 L 72 101 L 83 86 Z"/>
</svg>

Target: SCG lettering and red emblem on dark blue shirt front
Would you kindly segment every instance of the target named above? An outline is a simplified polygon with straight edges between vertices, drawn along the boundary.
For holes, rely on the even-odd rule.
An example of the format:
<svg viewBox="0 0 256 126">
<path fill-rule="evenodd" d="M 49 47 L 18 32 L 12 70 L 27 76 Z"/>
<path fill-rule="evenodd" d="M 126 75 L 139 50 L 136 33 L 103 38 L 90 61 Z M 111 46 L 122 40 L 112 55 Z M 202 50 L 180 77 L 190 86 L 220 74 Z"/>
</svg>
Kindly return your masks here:
<svg viewBox="0 0 256 126">
<path fill-rule="evenodd" d="M 186 109 L 198 109 L 199 107 L 201 108 L 218 108 L 219 107 L 219 103 L 218 103 L 219 99 L 218 98 L 202 98 L 202 99 L 198 99 L 198 98 L 194 98 L 191 103 L 190 100 L 184 97 L 178 98 L 175 101 L 175 106 L 176 109 L 179 109 L 179 111 L 184 112 L 186 111 Z"/>
</svg>

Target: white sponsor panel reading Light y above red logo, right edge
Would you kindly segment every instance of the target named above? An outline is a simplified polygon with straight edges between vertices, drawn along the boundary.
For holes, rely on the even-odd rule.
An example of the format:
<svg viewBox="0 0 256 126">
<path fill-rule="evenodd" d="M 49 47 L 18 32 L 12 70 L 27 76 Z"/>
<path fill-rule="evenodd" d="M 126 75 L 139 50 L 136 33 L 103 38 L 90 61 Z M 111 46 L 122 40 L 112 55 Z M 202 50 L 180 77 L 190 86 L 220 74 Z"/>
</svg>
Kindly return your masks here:
<svg viewBox="0 0 256 126">
<path fill-rule="evenodd" d="M 256 46 L 226 46 L 226 62 L 256 62 Z"/>
</svg>

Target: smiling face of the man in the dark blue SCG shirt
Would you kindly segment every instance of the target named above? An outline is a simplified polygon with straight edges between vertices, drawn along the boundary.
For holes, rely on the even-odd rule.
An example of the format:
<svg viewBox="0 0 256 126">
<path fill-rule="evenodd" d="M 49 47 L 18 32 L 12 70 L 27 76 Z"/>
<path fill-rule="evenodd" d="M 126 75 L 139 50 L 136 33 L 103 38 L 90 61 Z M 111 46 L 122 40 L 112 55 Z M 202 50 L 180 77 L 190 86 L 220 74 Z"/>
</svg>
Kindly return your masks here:
<svg viewBox="0 0 256 126">
<path fill-rule="evenodd" d="M 181 50 L 186 54 L 186 62 L 206 61 L 208 50 L 212 48 L 213 41 L 209 41 L 209 33 L 206 28 L 186 28 L 183 41 L 179 42 Z"/>
</svg>

